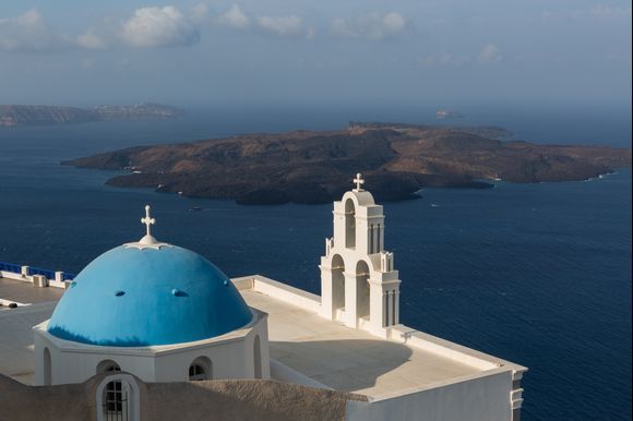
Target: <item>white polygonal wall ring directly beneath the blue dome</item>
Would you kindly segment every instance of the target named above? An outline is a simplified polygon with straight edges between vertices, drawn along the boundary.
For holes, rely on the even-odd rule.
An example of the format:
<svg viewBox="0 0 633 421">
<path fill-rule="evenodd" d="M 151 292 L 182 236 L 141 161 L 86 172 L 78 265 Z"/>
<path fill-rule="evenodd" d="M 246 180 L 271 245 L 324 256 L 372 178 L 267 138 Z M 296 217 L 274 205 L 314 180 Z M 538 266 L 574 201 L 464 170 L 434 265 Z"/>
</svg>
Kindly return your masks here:
<svg viewBox="0 0 633 421">
<path fill-rule="evenodd" d="M 213 378 L 251 378 L 255 366 L 262 378 L 270 377 L 267 315 L 253 311 L 249 326 L 228 337 L 208 341 L 158 347 L 97 347 L 53 337 L 46 332 L 48 322 L 34 327 L 35 384 L 46 381 L 45 350 L 50 352 L 50 384 L 82 383 L 97 374 L 103 361 L 115 362 L 121 371 L 134 373 L 144 382 L 187 382 L 189 368 L 199 358 L 211 362 Z M 255 364 L 255 337 L 259 337 L 259 364 Z"/>
</svg>

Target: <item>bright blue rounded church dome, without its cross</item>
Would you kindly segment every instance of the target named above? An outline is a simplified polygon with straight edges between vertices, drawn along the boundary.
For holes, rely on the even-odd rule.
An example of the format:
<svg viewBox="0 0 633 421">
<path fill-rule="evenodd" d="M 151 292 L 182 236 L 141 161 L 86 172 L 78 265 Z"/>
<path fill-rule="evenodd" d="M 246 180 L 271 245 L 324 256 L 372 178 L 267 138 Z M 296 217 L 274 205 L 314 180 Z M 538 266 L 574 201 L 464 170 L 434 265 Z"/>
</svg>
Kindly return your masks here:
<svg viewBox="0 0 633 421">
<path fill-rule="evenodd" d="M 121 245 L 75 277 L 48 332 L 84 344 L 142 347 L 212 338 L 251 318 L 232 282 L 201 255 L 175 245 Z"/>
</svg>

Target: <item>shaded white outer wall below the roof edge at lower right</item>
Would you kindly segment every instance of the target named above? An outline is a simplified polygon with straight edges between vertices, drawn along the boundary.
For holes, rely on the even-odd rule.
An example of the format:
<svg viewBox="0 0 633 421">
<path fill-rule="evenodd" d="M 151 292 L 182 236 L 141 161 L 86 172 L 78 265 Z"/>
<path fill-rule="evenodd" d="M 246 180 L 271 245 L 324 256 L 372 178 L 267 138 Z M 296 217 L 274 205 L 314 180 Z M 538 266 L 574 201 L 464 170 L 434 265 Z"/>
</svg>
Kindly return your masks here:
<svg viewBox="0 0 633 421">
<path fill-rule="evenodd" d="M 406 395 L 348 401 L 346 420 L 510 421 L 511 390 L 511 371 L 497 369 Z"/>
</svg>

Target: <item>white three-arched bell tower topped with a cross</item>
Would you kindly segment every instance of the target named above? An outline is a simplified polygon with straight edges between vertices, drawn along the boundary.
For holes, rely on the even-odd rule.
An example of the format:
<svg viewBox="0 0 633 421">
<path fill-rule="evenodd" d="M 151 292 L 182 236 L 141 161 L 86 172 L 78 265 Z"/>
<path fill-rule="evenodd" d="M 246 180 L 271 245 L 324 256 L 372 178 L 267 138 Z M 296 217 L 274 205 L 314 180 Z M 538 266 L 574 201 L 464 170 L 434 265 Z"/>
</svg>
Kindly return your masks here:
<svg viewBox="0 0 633 421">
<path fill-rule="evenodd" d="M 360 173 L 334 202 L 334 237 L 321 256 L 321 315 L 374 333 L 399 323 L 398 272 L 384 250 L 384 215 Z"/>
</svg>

